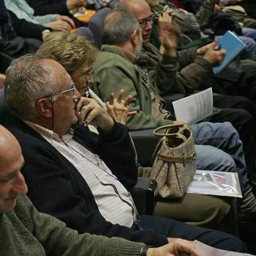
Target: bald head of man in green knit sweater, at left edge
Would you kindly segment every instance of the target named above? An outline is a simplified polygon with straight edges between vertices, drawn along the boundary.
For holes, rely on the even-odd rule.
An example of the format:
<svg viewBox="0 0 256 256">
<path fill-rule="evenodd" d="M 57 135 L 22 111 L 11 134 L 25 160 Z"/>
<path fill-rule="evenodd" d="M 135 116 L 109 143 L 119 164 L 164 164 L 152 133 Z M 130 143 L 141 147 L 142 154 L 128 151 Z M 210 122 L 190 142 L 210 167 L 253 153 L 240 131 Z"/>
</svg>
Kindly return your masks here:
<svg viewBox="0 0 256 256">
<path fill-rule="evenodd" d="M 20 173 L 24 163 L 20 145 L 4 127 L 0 126 L 0 211 L 11 211 L 19 194 L 27 193 L 27 185 Z"/>
</svg>

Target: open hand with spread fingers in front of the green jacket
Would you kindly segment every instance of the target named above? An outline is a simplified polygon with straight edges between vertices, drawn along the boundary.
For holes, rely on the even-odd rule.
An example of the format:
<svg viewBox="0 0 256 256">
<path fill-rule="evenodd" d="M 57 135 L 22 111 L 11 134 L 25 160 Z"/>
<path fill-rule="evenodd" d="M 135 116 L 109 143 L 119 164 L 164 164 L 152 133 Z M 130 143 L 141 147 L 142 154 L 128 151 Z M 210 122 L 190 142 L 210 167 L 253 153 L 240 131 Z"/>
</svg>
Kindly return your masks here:
<svg viewBox="0 0 256 256">
<path fill-rule="evenodd" d="M 109 101 L 106 102 L 108 113 L 113 117 L 114 121 L 121 122 L 126 125 L 127 116 L 134 116 L 137 112 L 129 112 L 129 103 L 132 100 L 132 96 L 129 95 L 126 100 L 122 100 L 124 90 L 120 90 L 118 97 L 114 98 L 114 93 L 111 93 Z"/>
</svg>

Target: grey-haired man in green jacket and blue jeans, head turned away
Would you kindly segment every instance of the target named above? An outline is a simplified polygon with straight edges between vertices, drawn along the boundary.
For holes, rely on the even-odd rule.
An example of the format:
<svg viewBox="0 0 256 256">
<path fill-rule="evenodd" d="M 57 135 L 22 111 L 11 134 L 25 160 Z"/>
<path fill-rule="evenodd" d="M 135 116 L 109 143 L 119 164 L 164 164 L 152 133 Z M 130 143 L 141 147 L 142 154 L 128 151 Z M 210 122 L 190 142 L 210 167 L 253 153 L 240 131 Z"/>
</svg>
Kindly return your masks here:
<svg viewBox="0 0 256 256">
<path fill-rule="evenodd" d="M 155 72 L 149 74 L 136 64 L 137 54 L 142 47 L 142 30 L 139 22 L 129 12 L 120 9 L 106 17 L 102 36 L 105 45 L 101 47 L 94 62 L 97 83 L 92 85 L 92 89 L 103 101 L 108 100 L 111 92 L 117 94 L 121 88 L 124 89 L 124 96 L 132 95 L 129 111 L 137 111 L 137 114 L 127 117 L 126 126 L 129 130 L 155 129 L 173 122 L 168 118 L 168 111 L 163 108 L 160 95 L 168 92 L 169 88 L 166 85 L 172 83 L 179 67 L 176 37 L 176 26 L 173 25 L 170 29 L 169 23 L 163 23 L 163 58 Z M 222 54 L 219 51 L 213 54 L 212 58 L 221 58 Z M 173 85 L 175 86 L 175 83 Z M 244 195 L 239 211 L 255 216 L 256 198 L 252 194 L 247 177 L 242 143 L 234 127 L 229 122 L 201 122 L 192 124 L 190 129 L 197 152 L 197 168 L 214 170 L 218 165 L 219 171 L 227 171 L 229 167 L 224 166 L 221 159 L 231 156 L 236 164 Z M 230 145 L 236 146 L 231 148 Z M 221 151 L 223 157 L 216 160 L 216 153 L 220 149 L 228 154 Z"/>
</svg>

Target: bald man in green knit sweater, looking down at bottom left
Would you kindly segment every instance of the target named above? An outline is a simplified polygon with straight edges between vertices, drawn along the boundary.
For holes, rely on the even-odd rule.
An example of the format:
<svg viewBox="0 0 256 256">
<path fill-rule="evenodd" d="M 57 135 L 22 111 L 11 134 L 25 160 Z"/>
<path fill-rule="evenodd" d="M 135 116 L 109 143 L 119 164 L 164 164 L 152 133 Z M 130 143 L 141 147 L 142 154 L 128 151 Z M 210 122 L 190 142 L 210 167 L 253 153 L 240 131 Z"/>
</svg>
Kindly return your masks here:
<svg viewBox="0 0 256 256">
<path fill-rule="evenodd" d="M 27 185 L 20 173 L 24 164 L 15 137 L 0 126 L 0 255 L 79 256 L 127 255 L 174 256 L 186 252 L 200 256 L 194 242 L 177 240 L 159 248 L 121 238 L 107 238 L 77 231 L 52 216 L 36 211 L 25 195 Z"/>
</svg>

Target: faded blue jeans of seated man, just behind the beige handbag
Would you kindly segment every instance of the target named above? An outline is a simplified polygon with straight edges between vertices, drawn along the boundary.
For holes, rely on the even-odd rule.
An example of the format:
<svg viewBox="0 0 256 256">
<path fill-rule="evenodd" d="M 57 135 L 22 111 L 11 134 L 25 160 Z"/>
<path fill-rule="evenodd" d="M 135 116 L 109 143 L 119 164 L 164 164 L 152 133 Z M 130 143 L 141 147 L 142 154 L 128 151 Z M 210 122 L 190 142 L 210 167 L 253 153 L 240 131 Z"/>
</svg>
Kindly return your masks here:
<svg viewBox="0 0 256 256">
<path fill-rule="evenodd" d="M 242 194 L 250 189 L 242 142 L 229 122 L 190 126 L 197 152 L 197 169 L 237 171 Z"/>
</svg>

